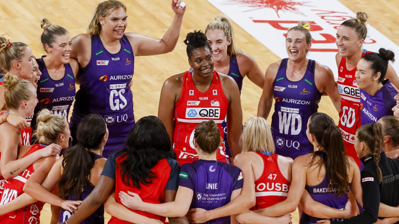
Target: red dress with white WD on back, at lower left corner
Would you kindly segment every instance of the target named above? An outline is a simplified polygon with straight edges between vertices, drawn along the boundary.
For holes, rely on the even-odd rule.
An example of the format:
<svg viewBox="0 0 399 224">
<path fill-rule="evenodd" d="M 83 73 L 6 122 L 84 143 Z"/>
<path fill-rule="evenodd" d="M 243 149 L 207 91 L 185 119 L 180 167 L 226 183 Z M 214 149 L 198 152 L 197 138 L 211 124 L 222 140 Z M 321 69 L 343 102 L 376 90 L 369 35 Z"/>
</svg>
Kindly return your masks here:
<svg viewBox="0 0 399 224">
<path fill-rule="evenodd" d="M 27 153 L 25 153 L 23 157 L 38 151 L 39 149 L 44 148 L 43 145 L 32 145 Z M 29 177 L 35 172 L 33 168 L 33 163 L 25 169 L 24 172 L 20 173 L 18 176 L 13 179 L 9 179 L 8 182 L 4 184 L 4 190 L 1 195 L 0 205 L 5 204 L 11 200 L 14 200 L 17 196 L 20 196 L 24 193 L 22 188 Z M 43 208 L 44 202 L 35 202 L 24 208 L 20 208 L 3 216 L 0 216 L 0 223 L 2 224 L 30 224 L 30 223 L 40 223 L 40 211 Z"/>
</svg>

